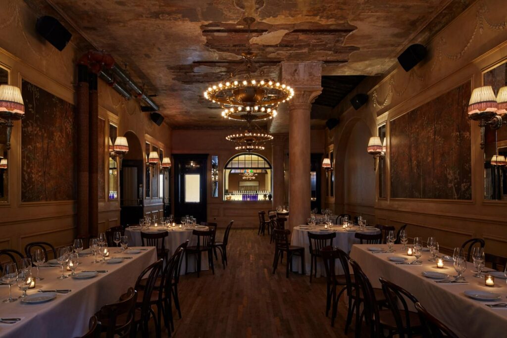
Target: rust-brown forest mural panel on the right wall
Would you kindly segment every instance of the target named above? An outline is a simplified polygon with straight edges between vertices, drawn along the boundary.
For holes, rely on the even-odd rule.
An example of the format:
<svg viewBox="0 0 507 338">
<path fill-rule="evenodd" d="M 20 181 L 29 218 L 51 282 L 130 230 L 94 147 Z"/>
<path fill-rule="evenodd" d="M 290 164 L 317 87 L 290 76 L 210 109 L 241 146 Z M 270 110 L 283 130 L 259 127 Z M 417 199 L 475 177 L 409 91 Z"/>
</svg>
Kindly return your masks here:
<svg viewBox="0 0 507 338">
<path fill-rule="evenodd" d="M 470 82 L 390 122 L 391 198 L 472 199 Z"/>
</svg>

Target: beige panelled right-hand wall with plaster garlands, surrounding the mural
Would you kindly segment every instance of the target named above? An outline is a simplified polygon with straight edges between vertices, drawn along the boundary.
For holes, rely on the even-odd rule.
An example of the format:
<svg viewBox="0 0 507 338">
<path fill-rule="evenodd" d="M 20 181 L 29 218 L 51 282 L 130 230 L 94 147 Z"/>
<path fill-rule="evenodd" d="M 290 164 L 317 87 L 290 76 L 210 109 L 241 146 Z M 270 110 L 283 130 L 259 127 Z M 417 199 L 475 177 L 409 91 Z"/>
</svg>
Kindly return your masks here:
<svg viewBox="0 0 507 338">
<path fill-rule="evenodd" d="M 483 30 L 477 25 L 478 11 L 486 6 Z M 507 27 L 493 26 L 505 22 L 505 2 L 485 0 L 476 3 L 457 17 L 428 44 L 429 55 L 410 72 L 400 66 L 386 74 L 379 82 L 367 80 L 361 83 L 336 108 L 340 125 L 326 136 L 326 144 L 334 146 L 337 154 L 336 191 L 333 206 L 337 212 L 352 214 L 371 213 L 370 222 L 392 224 L 400 227 L 409 224 L 410 237 L 436 236 L 441 248 L 452 250 L 466 239 L 481 237 L 486 240 L 486 251 L 507 256 L 507 221 L 505 201 L 484 201 L 483 151 L 479 147 L 479 128 L 472 123 L 472 191 L 470 201 L 378 199 L 377 186 L 372 180 L 367 189 L 374 208 L 357 205 L 354 194 L 345 187 L 353 186 L 356 175 L 345 168 L 343 160 L 365 157 L 366 142 L 377 135 L 377 127 L 405 114 L 411 109 L 438 97 L 465 81 L 473 88 L 481 86 L 482 71 L 507 57 Z M 359 110 L 348 104 L 349 98 L 359 92 L 368 93 L 369 102 Z M 374 97 L 378 105 L 374 105 Z M 385 104 L 385 105 L 384 105 Z M 368 126 L 356 134 L 354 126 Z M 505 127 L 503 127 L 505 128 Z M 352 151 L 348 144 L 362 134 L 363 145 Z M 387 151 L 387 191 L 389 194 L 389 144 Z M 347 151 L 343 149 L 346 148 Z M 352 153 L 348 153 L 352 151 Z M 369 162 L 369 163 L 368 163 Z M 367 162 L 372 168 L 373 160 Z M 368 169 L 371 170 L 371 169 Z M 345 193 L 347 192 L 347 193 Z M 356 192 L 355 194 L 357 194 Z"/>
</svg>

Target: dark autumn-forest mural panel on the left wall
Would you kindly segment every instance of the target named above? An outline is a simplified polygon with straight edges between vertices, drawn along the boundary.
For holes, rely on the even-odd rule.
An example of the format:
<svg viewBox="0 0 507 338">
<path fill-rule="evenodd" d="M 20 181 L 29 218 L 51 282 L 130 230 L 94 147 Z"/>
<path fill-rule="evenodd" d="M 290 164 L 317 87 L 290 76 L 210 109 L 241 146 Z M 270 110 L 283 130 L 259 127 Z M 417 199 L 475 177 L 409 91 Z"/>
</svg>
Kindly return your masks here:
<svg viewBox="0 0 507 338">
<path fill-rule="evenodd" d="M 22 202 L 76 199 L 74 105 L 23 80 Z"/>
</svg>

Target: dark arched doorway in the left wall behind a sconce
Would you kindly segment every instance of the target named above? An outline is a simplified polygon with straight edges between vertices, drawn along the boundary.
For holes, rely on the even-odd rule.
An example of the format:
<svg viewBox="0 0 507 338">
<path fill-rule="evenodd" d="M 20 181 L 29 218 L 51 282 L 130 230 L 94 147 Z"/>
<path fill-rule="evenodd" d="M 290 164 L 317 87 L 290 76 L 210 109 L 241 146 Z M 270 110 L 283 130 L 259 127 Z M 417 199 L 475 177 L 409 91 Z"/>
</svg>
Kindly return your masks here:
<svg viewBox="0 0 507 338">
<path fill-rule="evenodd" d="M 120 222 L 122 226 L 137 224 L 143 216 L 142 179 L 144 161 L 141 142 L 132 131 L 124 135 L 127 138 L 129 152 L 123 158 L 120 172 Z"/>
</svg>

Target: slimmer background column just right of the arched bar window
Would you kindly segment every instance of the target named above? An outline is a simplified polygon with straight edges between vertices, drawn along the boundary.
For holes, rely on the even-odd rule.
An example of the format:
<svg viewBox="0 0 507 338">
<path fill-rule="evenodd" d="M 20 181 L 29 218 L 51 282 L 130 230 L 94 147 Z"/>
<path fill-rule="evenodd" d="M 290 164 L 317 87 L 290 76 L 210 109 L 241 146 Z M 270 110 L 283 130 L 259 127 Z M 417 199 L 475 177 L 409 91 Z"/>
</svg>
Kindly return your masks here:
<svg viewBox="0 0 507 338">
<path fill-rule="evenodd" d="M 271 165 L 273 166 L 273 200 L 272 209 L 284 204 L 285 182 L 283 176 L 283 149 L 285 146 L 285 137 L 282 135 L 275 135 L 271 141 Z"/>
</svg>

